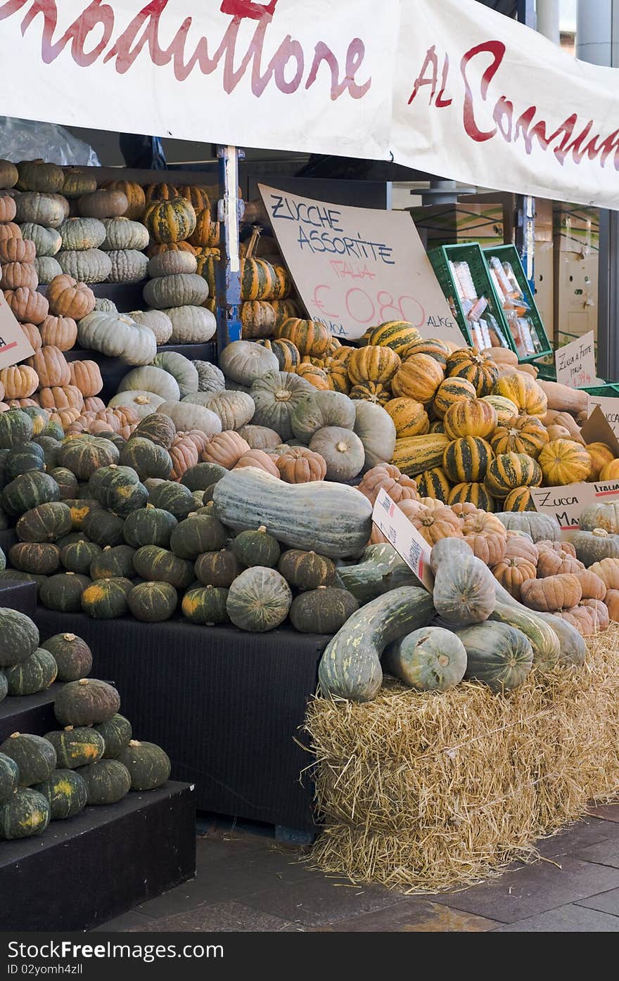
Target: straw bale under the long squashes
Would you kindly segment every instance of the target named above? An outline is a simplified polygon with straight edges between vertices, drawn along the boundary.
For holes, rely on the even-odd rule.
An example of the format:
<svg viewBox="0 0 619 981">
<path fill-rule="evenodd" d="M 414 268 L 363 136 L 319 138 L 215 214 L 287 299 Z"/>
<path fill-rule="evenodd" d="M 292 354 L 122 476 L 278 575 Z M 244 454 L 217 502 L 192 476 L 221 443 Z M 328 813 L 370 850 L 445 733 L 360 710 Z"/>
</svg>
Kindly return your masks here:
<svg viewBox="0 0 619 981">
<path fill-rule="evenodd" d="M 583 668 L 506 696 L 386 678 L 364 704 L 316 697 L 306 731 L 325 820 L 312 859 L 354 882 L 437 892 L 479 881 L 619 793 L 619 624 Z"/>
</svg>

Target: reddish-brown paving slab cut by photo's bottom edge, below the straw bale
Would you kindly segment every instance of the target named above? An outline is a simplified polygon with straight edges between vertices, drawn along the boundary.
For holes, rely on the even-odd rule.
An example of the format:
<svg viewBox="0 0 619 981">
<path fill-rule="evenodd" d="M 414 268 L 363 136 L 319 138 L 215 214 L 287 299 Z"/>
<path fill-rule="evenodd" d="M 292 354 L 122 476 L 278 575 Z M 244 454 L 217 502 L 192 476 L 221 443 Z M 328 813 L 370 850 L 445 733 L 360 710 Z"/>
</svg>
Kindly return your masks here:
<svg viewBox="0 0 619 981">
<path fill-rule="evenodd" d="M 314 933 L 481 933 L 495 930 L 496 920 L 475 916 L 425 900 L 406 900 L 385 909 L 315 927 Z"/>
</svg>

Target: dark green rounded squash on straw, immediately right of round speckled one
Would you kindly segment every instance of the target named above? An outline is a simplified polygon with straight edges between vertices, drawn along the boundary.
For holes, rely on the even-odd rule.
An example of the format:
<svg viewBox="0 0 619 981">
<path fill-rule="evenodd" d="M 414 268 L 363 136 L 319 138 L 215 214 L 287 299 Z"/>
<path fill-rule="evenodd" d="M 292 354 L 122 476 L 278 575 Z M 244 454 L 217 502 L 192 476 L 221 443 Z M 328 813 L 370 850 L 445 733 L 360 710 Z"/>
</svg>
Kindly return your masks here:
<svg viewBox="0 0 619 981">
<path fill-rule="evenodd" d="M 504 623 L 478 623 L 457 632 L 466 647 L 465 678 L 485 682 L 491 692 L 509 691 L 533 667 L 533 647 L 520 630 Z"/>
</svg>

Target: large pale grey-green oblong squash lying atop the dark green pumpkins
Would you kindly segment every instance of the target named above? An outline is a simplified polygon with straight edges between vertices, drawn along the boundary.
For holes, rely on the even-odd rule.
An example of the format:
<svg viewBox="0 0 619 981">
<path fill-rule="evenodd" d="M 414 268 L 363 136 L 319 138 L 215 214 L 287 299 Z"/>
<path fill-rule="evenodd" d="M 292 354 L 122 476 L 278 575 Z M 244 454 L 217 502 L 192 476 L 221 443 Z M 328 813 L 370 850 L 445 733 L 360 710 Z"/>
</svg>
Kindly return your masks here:
<svg viewBox="0 0 619 981">
<path fill-rule="evenodd" d="M 215 485 L 213 504 L 234 531 L 265 525 L 278 542 L 335 558 L 358 554 L 372 533 L 372 504 L 355 488 L 284 484 L 254 467 L 226 474 Z"/>
</svg>

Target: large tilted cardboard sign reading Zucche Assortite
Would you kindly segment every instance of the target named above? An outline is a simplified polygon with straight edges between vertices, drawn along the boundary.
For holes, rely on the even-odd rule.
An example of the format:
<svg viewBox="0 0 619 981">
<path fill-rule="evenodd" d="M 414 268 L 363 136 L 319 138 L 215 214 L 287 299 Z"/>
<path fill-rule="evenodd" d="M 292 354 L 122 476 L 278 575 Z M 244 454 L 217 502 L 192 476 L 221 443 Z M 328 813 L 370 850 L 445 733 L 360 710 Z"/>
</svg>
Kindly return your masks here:
<svg viewBox="0 0 619 981">
<path fill-rule="evenodd" d="M 259 184 L 286 266 L 312 320 L 341 339 L 408 321 L 462 345 L 410 215 L 349 208 Z"/>
</svg>

